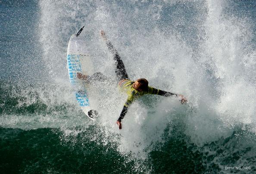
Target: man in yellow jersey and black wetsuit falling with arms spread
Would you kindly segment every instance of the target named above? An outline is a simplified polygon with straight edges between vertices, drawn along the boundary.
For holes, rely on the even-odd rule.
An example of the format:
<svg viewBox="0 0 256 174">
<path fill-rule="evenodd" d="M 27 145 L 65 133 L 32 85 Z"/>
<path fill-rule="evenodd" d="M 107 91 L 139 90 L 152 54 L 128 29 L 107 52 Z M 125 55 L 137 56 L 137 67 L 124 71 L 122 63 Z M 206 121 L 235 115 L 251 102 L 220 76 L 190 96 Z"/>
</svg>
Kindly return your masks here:
<svg viewBox="0 0 256 174">
<path fill-rule="evenodd" d="M 181 98 L 182 104 L 187 102 L 187 99 L 183 95 L 178 95 L 175 93 L 158 90 L 156 88 L 148 86 L 148 81 L 145 78 L 139 78 L 136 81 L 131 81 L 126 73 L 125 65 L 121 60 L 121 57 L 117 53 L 116 49 L 113 47 L 111 42 L 106 38 L 105 32 L 102 30 L 100 33 L 104 41 L 106 42 L 106 45 L 109 51 L 113 54 L 113 58 L 116 64 L 116 76 L 117 76 L 117 80 L 119 81 L 118 85 L 122 89 L 122 91 L 128 94 L 128 99 L 126 100 L 125 105 L 120 114 L 120 117 L 116 122 L 119 126 L 119 129 L 122 129 L 121 121 L 125 117 L 125 114 L 128 111 L 128 107 L 131 105 L 132 102 L 134 102 L 134 100 L 136 100 L 137 98 L 145 94 L 156 94 L 160 96 L 176 96 Z M 78 73 L 77 77 L 87 82 L 91 82 L 95 80 L 105 81 L 107 79 L 106 76 L 104 76 L 100 72 L 96 72 L 91 76 Z"/>
</svg>

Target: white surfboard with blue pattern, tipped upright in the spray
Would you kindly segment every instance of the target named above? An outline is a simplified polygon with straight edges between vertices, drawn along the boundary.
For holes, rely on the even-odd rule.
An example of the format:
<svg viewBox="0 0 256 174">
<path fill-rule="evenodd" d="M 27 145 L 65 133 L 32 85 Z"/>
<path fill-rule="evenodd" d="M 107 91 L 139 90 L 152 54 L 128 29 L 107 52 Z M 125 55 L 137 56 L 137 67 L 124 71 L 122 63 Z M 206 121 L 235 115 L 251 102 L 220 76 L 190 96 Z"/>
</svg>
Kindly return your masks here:
<svg viewBox="0 0 256 174">
<path fill-rule="evenodd" d="M 98 116 L 98 112 L 91 108 L 84 81 L 77 78 L 78 72 L 83 73 L 81 60 L 85 62 L 89 62 L 90 60 L 90 55 L 87 53 L 86 44 L 79 36 L 83 28 L 81 28 L 77 34 L 73 34 L 69 39 L 67 54 L 69 80 L 73 89 L 75 90 L 75 98 L 78 101 L 81 109 L 91 120 L 95 120 Z"/>
</svg>

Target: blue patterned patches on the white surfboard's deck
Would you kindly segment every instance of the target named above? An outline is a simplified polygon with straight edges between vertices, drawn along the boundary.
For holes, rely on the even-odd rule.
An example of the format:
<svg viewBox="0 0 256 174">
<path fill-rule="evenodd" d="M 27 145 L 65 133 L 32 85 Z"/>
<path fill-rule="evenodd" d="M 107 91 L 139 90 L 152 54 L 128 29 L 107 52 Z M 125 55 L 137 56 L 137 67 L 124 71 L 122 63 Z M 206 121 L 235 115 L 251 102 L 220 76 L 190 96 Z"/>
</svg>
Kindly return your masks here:
<svg viewBox="0 0 256 174">
<path fill-rule="evenodd" d="M 77 79 L 77 73 L 82 73 L 82 65 L 80 62 L 79 54 L 69 54 L 67 57 L 68 69 L 69 69 L 69 79 L 72 85 L 79 85 Z M 79 90 L 75 93 L 75 98 L 79 102 L 80 106 L 90 106 L 89 98 L 87 96 L 86 90 Z"/>
</svg>

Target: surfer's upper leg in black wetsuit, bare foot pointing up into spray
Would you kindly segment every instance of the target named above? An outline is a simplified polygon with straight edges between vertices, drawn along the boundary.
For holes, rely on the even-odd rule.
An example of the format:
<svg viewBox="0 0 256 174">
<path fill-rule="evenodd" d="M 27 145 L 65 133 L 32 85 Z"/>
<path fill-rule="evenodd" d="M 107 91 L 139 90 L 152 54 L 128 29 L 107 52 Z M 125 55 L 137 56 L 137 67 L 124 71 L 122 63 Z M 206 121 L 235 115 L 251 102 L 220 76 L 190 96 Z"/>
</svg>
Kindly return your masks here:
<svg viewBox="0 0 256 174">
<path fill-rule="evenodd" d="M 125 70 L 125 65 L 123 61 L 121 60 L 121 57 L 119 56 L 118 52 L 116 51 L 116 48 L 112 45 L 112 43 L 106 38 L 106 33 L 102 30 L 100 32 L 103 39 L 106 41 L 106 45 L 109 48 L 109 51 L 113 54 L 113 58 L 115 60 L 116 64 L 116 76 L 118 81 L 121 81 L 122 79 L 128 79 L 128 74 Z"/>
</svg>

